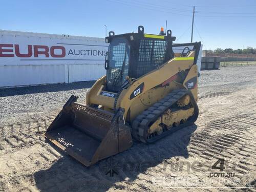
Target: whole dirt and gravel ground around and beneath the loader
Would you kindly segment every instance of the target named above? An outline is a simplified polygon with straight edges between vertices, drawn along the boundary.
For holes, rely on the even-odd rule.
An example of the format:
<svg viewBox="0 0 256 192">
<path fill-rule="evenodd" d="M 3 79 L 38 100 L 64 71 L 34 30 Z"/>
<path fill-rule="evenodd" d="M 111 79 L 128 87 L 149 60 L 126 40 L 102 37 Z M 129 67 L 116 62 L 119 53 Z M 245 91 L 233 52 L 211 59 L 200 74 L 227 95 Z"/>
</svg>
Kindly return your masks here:
<svg viewBox="0 0 256 192">
<path fill-rule="evenodd" d="M 195 125 L 154 144 L 135 141 L 91 167 L 43 134 L 70 95 L 84 100 L 93 82 L 1 89 L 0 191 L 256 191 L 255 74 L 256 66 L 202 71 Z M 212 169 L 219 158 L 223 172 Z"/>
</svg>

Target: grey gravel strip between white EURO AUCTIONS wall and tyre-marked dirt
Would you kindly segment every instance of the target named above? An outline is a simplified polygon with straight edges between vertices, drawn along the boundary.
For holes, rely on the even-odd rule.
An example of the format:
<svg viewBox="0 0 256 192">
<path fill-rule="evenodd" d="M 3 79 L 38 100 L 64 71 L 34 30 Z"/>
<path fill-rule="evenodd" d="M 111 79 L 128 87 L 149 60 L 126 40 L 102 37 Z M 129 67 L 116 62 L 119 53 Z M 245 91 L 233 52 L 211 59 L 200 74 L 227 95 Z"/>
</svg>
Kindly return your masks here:
<svg viewBox="0 0 256 192">
<path fill-rule="evenodd" d="M 93 83 L 94 81 L 84 81 L 0 89 L 0 119 L 28 112 L 56 110 L 73 94 L 79 97 L 79 101 L 84 101 Z"/>
</svg>

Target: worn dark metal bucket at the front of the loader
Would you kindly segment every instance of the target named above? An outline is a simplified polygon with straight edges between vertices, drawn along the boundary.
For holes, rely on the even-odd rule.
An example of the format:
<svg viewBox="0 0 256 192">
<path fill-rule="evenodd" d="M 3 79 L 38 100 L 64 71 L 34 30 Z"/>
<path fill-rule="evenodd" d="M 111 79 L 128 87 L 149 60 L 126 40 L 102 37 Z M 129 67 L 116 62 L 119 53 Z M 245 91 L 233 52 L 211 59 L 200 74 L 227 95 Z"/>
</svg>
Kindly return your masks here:
<svg viewBox="0 0 256 192">
<path fill-rule="evenodd" d="M 45 136 L 86 166 L 132 146 L 123 109 L 115 114 L 76 102 L 72 95 L 48 127 Z"/>
</svg>

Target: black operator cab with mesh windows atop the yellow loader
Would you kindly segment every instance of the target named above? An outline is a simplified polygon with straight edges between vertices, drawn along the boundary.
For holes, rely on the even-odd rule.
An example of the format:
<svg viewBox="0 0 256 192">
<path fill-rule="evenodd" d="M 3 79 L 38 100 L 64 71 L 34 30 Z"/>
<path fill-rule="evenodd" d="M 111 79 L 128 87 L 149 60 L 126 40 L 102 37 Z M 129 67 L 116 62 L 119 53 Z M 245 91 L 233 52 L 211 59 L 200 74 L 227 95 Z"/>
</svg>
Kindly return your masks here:
<svg viewBox="0 0 256 192">
<path fill-rule="evenodd" d="M 161 29 L 160 35 L 144 34 L 144 27 L 138 33 L 115 35 L 113 31 L 105 38 L 110 43 L 105 57 L 106 91 L 118 92 L 126 77 L 139 78 L 172 59 L 172 31 L 167 35 Z"/>
</svg>

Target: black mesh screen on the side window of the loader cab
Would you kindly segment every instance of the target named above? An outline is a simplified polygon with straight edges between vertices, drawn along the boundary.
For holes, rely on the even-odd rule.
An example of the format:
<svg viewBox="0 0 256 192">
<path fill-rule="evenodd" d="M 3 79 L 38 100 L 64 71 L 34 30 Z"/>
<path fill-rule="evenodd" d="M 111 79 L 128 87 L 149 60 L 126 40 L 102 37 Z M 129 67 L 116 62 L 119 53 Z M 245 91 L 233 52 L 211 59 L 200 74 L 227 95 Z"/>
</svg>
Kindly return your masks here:
<svg viewBox="0 0 256 192">
<path fill-rule="evenodd" d="M 167 42 L 163 40 L 141 39 L 139 59 L 135 78 L 138 78 L 162 65 L 165 58 Z"/>
</svg>

